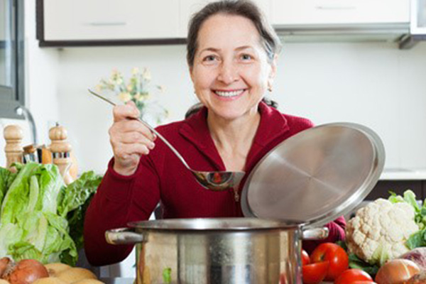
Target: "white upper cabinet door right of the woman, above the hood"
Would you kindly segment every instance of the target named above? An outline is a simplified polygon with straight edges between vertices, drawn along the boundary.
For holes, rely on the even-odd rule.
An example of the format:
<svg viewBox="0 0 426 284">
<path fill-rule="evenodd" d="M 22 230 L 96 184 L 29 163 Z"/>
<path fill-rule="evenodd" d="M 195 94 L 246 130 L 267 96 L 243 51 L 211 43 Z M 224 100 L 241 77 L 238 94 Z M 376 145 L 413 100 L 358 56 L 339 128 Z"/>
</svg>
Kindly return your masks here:
<svg viewBox="0 0 426 284">
<path fill-rule="evenodd" d="M 272 0 L 275 26 L 408 23 L 410 0 Z"/>
</svg>

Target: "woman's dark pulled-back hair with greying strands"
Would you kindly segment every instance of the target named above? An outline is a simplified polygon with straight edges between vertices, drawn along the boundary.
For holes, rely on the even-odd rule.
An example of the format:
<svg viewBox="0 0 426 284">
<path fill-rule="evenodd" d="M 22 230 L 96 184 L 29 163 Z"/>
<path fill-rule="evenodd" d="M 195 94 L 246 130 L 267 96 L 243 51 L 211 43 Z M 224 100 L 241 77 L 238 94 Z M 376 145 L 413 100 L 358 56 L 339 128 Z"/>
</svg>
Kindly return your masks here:
<svg viewBox="0 0 426 284">
<path fill-rule="evenodd" d="M 195 53 L 197 53 L 198 48 L 198 33 L 202 24 L 210 16 L 219 13 L 248 18 L 256 26 L 259 35 L 261 35 L 261 44 L 265 49 L 269 62 L 272 62 L 275 55 L 280 53 L 280 39 L 256 4 L 253 4 L 250 0 L 222 0 L 207 4 L 203 9 L 192 15 L 190 19 L 187 35 L 187 64 L 189 67 L 194 65 Z M 262 101 L 270 107 L 278 108 L 278 103 L 271 99 L 263 97 Z M 201 103 L 190 107 L 185 114 L 185 118 L 195 114 L 201 107 Z"/>
</svg>

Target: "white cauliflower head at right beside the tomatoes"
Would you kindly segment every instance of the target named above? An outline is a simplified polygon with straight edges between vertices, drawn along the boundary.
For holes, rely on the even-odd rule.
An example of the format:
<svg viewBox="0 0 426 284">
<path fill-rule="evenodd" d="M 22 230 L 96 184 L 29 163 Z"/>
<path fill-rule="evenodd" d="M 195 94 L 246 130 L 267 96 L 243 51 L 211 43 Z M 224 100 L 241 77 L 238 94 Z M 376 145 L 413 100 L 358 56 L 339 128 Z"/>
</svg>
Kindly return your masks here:
<svg viewBox="0 0 426 284">
<path fill-rule="evenodd" d="M 379 198 L 359 209 L 346 226 L 346 245 L 364 261 L 381 265 L 409 251 L 405 246 L 419 230 L 415 209 L 406 202 Z"/>
</svg>

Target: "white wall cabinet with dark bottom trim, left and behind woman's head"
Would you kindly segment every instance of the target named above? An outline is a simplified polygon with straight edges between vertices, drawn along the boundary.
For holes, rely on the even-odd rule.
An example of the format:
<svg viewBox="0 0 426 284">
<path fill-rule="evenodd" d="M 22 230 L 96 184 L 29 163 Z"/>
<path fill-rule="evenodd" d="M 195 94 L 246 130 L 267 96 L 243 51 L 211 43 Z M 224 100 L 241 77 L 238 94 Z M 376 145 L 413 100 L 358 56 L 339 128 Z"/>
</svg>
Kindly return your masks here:
<svg viewBox="0 0 426 284">
<path fill-rule="evenodd" d="M 40 46 L 185 43 L 195 11 L 213 0 L 37 0 Z M 254 0 L 267 16 L 271 1 Z"/>
</svg>

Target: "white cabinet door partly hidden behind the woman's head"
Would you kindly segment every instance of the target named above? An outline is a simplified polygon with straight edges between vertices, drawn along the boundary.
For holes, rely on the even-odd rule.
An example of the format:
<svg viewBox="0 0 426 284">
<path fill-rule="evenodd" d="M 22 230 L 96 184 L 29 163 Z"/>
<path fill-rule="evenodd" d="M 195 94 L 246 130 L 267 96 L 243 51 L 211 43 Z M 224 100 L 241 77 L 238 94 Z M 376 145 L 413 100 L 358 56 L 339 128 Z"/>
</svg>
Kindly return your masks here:
<svg viewBox="0 0 426 284">
<path fill-rule="evenodd" d="M 209 2 L 217 0 L 180 0 L 180 19 L 179 19 L 179 37 L 187 37 L 187 28 L 190 18 L 193 13 L 200 11 Z M 265 13 L 266 17 L 270 19 L 271 15 L 271 1 L 270 0 L 253 0 L 258 7 Z"/>
</svg>

